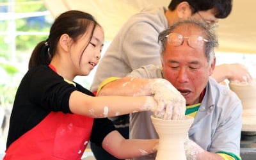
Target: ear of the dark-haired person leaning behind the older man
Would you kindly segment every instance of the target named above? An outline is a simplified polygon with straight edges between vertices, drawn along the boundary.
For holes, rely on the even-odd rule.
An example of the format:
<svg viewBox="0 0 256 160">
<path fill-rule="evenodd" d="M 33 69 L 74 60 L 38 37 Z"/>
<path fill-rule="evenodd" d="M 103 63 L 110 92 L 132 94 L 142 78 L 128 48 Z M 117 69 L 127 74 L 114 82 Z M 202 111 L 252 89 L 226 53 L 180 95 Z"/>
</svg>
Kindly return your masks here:
<svg viewBox="0 0 256 160">
<path fill-rule="evenodd" d="M 188 19 L 192 16 L 191 6 L 186 1 L 183 1 L 182 3 L 178 4 L 176 12 L 179 19 Z"/>
</svg>

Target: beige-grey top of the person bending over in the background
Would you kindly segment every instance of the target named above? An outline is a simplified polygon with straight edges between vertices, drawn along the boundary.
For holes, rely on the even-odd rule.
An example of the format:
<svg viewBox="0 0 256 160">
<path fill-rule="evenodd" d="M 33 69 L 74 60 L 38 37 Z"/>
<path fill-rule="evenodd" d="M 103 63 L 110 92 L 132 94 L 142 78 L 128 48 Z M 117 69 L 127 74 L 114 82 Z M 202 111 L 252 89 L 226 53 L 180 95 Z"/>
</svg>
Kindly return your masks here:
<svg viewBox="0 0 256 160">
<path fill-rule="evenodd" d="M 168 28 L 165 11 L 164 7 L 148 6 L 125 22 L 100 60 L 92 92 L 108 77 L 124 77 L 142 65 L 161 65 L 157 39 Z"/>
</svg>

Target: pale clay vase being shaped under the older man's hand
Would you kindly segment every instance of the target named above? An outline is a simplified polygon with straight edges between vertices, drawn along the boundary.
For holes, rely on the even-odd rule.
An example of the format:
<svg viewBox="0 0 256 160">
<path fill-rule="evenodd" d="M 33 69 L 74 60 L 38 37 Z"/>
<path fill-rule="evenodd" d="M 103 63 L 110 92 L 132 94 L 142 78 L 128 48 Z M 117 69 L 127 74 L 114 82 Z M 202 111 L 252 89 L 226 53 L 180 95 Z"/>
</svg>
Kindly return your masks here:
<svg viewBox="0 0 256 160">
<path fill-rule="evenodd" d="M 184 140 L 194 118 L 185 116 L 185 120 L 163 120 L 151 116 L 151 120 L 159 136 L 156 160 L 186 160 Z"/>
</svg>

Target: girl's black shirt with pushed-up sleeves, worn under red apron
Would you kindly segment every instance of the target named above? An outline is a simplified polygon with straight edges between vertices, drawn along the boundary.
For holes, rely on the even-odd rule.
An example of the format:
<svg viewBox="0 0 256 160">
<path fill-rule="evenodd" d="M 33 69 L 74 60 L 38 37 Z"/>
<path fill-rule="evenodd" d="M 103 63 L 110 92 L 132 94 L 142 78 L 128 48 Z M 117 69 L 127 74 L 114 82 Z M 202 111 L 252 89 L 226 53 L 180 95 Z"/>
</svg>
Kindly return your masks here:
<svg viewBox="0 0 256 160">
<path fill-rule="evenodd" d="M 15 95 L 6 148 L 33 129 L 51 111 L 71 113 L 69 97 L 75 90 L 94 96 L 80 84 L 75 85 L 67 83 L 48 66 L 28 70 Z M 115 127 L 108 118 L 95 118 L 90 141 L 101 146 L 104 137 L 114 130 Z"/>
</svg>

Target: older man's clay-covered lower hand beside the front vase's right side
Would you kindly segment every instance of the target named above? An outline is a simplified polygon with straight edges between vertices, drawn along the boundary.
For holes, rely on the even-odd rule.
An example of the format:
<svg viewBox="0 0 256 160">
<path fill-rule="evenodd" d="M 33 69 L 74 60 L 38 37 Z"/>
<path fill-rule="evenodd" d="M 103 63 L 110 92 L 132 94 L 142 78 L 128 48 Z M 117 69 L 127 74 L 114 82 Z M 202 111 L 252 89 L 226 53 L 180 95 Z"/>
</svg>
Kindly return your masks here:
<svg viewBox="0 0 256 160">
<path fill-rule="evenodd" d="M 196 160 L 196 156 L 204 152 L 203 148 L 188 138 L 188 135 L 185 138 L 184 148 L 188 160 Z"/>
</svg>

